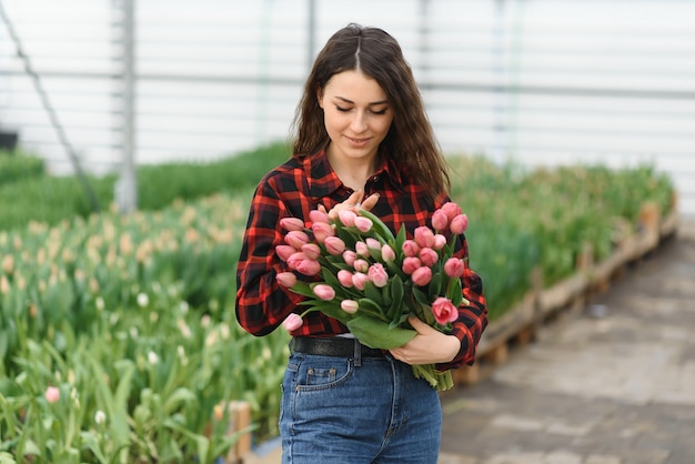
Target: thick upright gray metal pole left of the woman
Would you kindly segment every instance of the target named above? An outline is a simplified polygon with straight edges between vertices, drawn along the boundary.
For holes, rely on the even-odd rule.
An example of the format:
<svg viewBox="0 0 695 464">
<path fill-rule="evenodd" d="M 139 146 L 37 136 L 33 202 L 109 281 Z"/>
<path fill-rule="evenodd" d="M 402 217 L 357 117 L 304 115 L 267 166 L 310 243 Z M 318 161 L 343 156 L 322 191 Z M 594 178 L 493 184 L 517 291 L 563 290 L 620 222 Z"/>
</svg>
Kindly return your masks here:
<svg viewBox="0 0 695 464">
<path fill-rule="evenodd" d="M 122 214 L 133 212 L 138 208 L 138 181 L 134 162 L 134 2 L 123 0 L 123 163 L 121 176 L 115 184 L 115 201 Z"/>
</svg>

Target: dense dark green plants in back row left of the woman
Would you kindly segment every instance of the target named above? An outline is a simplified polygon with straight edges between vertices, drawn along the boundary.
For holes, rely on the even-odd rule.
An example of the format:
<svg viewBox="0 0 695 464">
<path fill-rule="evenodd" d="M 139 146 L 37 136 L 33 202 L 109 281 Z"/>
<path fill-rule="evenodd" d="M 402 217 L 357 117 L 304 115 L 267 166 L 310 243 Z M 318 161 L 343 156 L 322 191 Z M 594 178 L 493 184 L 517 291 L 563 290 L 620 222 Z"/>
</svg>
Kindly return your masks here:
<svg viewBox="0 0 695 464">
<path fill-rule="evenodd" d="M 273 143 L 210 163 L 165 163 L 138 169 L 138 206 L 167 208 L 175 200 L 193 201 L 214 193 L 236 194 L 255 186 L 260 176 L 288 157 L 284 143 Z M 0 153 L 0 230 L 21 229 L 32 221 L 54 225 L 75 216 L 108 211 L 118 175 L 52 176 L 31 153 Z M 92 204 L 93 195 L 98 210 Z"/>
</svg>

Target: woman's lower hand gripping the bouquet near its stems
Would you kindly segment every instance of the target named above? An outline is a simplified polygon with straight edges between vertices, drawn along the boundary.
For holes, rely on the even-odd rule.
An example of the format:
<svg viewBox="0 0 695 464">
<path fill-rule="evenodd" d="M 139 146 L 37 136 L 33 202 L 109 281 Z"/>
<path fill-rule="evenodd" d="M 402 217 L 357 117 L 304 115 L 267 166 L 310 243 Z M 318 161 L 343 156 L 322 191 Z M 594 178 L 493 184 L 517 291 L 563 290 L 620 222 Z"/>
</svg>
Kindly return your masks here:
<svg viewBox="0 0 695 464">
<path fill-rule="evenodd" d="M 461 342 L 454 335 L 446 335 L 416 316 L 410 316 L 407 322 L 417 334 L 403 346 L 389 350 L 396 360 L 410 365 L 435 364 L 447 363 L 459 354 Z"/>
</svg>

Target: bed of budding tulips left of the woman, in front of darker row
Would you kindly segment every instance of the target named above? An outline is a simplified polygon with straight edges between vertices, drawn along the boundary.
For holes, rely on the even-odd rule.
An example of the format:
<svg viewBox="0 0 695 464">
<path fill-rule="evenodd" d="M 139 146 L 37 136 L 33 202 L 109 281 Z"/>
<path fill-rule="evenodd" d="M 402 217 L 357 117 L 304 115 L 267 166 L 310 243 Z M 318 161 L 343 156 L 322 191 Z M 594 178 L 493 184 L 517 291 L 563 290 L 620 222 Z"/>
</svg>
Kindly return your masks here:
<svg viewBox="0 0 695 464">
<path fill-rule="evenodd" d="M 213 415 L 232 400 L 276 433 L 286 334 L 253 339 L 233 315 L 249 200 L 0 234 L 0 451 L 213 462 L 235 441 Z"/>
</svg>

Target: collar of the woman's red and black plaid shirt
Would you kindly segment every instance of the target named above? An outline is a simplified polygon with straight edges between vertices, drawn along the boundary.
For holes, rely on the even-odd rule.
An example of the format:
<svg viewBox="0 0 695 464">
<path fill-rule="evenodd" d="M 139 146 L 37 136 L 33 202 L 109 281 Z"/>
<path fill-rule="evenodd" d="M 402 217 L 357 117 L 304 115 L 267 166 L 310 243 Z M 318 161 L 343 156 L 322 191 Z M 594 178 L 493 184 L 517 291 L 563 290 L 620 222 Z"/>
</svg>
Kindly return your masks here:
<svg viewBox="0 0 695 464">
<path fill-rule="evenodd" d="M 385 178 L 395 190 L 403 192 L 401 171 L 385 155 L 385 152 L 382 151 L 380 158 L 381 165 L 376 169 L 374 175 Z M 312 198 L 321 199 L 329 196 L 343 185 L 335 171 L 333 171 L 325 150 L 321 150 L 311 157 L 303 157 L 301 162 Z"/>
</svg>

